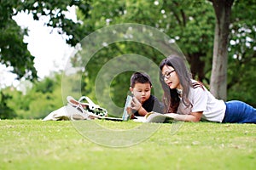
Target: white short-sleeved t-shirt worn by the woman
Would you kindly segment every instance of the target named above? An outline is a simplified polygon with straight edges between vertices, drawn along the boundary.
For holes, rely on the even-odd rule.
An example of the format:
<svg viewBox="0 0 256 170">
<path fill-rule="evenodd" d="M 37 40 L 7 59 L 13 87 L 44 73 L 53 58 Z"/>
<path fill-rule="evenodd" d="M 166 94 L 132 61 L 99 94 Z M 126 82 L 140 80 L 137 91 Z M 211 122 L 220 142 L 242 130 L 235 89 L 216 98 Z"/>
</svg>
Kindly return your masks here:
<svg viewBox="0 0 256 170">
<path fill-rule="evenodd" d="M 192 80 L 192 82 L 195 82 Z M 192 108 L 187 108 L 183 103 L 179 105 L 178 113 L 190 114 L 190 112 L 203 111 L 202 120 L 211 122 L 222 122 L 226 111 L 226 105 L 223 100 L 216 99 L 208 90 L 204 87 L 190 88 L 189 101 Z"/>
</svg>

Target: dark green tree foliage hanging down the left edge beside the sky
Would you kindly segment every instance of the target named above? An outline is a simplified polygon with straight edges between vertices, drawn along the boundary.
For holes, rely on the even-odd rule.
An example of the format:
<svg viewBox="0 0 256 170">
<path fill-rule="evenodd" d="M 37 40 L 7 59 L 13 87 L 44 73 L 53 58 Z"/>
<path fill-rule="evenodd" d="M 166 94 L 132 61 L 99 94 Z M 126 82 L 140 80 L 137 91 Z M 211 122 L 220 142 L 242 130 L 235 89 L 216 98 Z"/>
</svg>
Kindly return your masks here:
<svg viewBox="0 0 256 170">
<path fill-rule="evenodd" d="M 18 79 L 25 77 L 34 80 L 37 78 L 37 71 L 33 66 L 34 57 L 23 42 L 27 30 L 21 29 L 12 19 L 19 2 L 2 0 L 0 3 L 0 63 L 12 66 Z"/>
</svg>

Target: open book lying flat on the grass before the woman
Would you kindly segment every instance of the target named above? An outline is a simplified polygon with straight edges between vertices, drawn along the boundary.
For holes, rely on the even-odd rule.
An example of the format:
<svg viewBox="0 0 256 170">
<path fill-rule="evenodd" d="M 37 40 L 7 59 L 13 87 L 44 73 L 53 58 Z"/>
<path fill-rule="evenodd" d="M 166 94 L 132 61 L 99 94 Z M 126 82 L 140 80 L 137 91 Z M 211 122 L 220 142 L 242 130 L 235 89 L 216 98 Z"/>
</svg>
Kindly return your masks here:
<svg viewBox="0 0 256 170">
<path fill-rule="evenodd" d="M 161 114 L 154 111 L 148 112 L 145 116 L 135 116 L 134 122 L 174 122 L 171 114 Z"/>
</svg>

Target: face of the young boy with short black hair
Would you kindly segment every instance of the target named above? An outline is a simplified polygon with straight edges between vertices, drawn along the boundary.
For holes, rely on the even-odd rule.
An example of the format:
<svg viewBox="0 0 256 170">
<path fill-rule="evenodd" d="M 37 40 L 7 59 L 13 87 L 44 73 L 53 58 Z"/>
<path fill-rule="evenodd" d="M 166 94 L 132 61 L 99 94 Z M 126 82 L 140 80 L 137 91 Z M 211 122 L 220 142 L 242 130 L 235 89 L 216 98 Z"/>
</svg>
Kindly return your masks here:
<svg viewBox="0 0 256 170">
<path fill-rule="evenodd" d="M 130 91 L 143 104 L 150 97 L 151 86 L 149 83 L 137 82 L 134 88 L 130 88 Z"/>
</svg>

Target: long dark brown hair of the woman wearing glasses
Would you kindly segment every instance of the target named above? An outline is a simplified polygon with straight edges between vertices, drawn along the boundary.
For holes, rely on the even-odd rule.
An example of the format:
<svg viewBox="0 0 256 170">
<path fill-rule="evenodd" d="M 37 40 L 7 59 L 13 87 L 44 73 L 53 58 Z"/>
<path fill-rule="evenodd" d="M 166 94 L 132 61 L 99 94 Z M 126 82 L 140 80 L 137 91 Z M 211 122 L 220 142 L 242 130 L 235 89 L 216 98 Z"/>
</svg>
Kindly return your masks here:
<svg viewBox="0 0 256 170">
<path fill-rule="evenodd" d="M 189 101 L 189 88 L 193 87 L 191 81 L 191 73 L 185 65 L 184 59 L 177 55 L 170 55 L 166 59 L 160 62 L 160 82 L 164 90 L 163 103 L 165 105 L 164 112 L 177 113 L 177 108 L 180 103 L 180 99 L 177 94 L 177 89 L 171 89 L 166 85 L 165 77 L 162 75 L 163 67 L 172 66 L 179 79 L 181 86 L 183 87 L 182 102 L 184 105 L 189 107 L 191 102 Z"/>
</svg>

